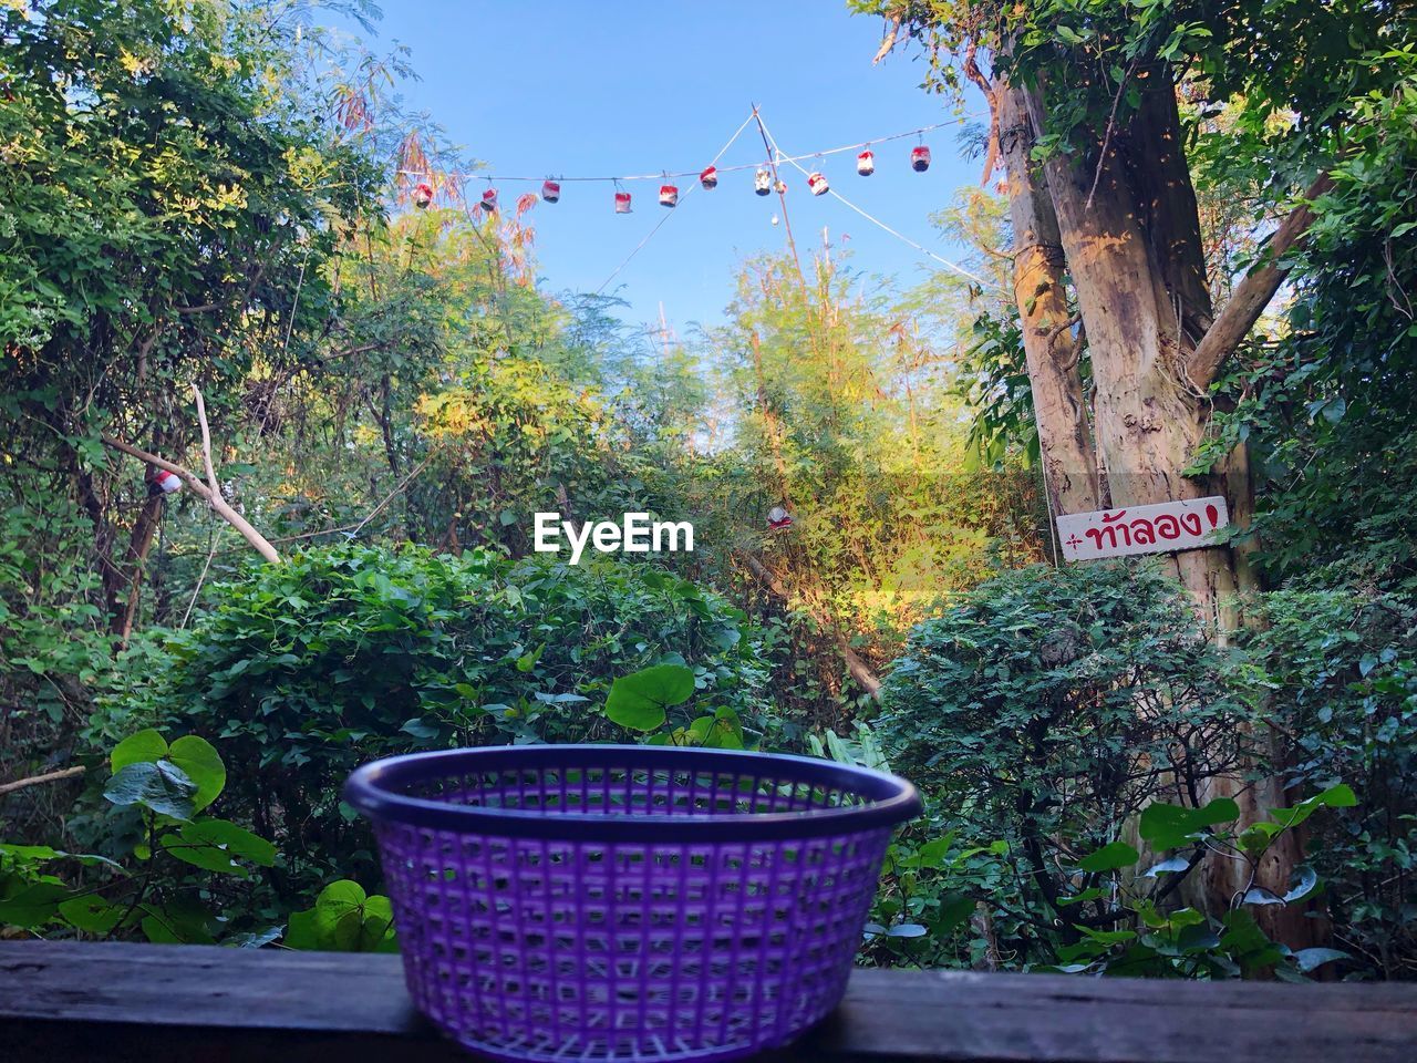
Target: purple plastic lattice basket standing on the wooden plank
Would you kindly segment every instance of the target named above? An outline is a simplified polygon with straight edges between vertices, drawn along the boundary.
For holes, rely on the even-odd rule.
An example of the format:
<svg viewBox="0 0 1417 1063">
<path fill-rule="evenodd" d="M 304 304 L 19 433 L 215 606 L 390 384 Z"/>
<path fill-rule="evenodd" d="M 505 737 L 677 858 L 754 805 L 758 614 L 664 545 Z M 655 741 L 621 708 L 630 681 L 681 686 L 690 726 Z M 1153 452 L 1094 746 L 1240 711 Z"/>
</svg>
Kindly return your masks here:
<svg viewBox="0 0 1417 1063">
<path fill-rule="evenodd" d="M 374 822 L 408 989 L 502 1060 L 727 1060 L 846 989 L 908 782 L 657 746 L 393 757 Z"/>
</svg>

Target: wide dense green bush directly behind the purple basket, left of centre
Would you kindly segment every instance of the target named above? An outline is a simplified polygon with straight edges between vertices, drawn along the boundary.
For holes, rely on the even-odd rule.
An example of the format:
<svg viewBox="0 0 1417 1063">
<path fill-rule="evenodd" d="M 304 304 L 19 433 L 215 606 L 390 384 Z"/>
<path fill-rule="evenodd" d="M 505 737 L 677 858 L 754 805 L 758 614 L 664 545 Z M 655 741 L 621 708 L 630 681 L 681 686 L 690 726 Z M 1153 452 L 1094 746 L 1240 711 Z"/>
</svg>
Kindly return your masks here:
<svg viewBox="0 0 1417 1063">
<path fill-rule="evenodd" d="M 419 748 L 615 740 L 585 712 L 611 682 L 691 669 L 750 731 L 771 727 L 755 636 L 741 612 L 636 564 L 568 567 L 472 551 L 315 549 L 215 588 L 176 634 L 139 710 L 220 741 L 242 770 L 228 799 L 282 848 L 285 897 L 373 873 L 344 777 Z M 132 727 L 132 703 L 95 734 Z"/>
</svg>

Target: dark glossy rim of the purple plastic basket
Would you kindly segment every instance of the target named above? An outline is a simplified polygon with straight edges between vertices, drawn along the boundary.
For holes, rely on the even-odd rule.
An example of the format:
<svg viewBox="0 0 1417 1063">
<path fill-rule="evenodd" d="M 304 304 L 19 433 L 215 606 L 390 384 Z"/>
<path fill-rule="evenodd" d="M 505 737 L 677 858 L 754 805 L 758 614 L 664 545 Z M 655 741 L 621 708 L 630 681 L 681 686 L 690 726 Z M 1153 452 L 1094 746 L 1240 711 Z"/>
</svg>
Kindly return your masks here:
<svg viewBox="0 0 1417 1063">
<path fill-rule="evenodd" d="M 764 761 L 774 770 L 764 771 Z M 802 812 L 733 812 L 728 815 L 631 815 L 485 808 L 415 798 L 400 787 L 424 780 L 519 768 L 629 768 L 779 774 L 808 784 L 850 789 L 867 805 L 813 808 Z M 370 819 L 435 831 L 504 838 L 561 838 L 584 842 L 760 842 L 845 835 L 890 828 L 921 812 L 915 787 L 883 771 L 816 757 L 665 746 L 489 746 L 385 757 L 357 768 L 344 784 L 344 799 Z"/>
</svg>

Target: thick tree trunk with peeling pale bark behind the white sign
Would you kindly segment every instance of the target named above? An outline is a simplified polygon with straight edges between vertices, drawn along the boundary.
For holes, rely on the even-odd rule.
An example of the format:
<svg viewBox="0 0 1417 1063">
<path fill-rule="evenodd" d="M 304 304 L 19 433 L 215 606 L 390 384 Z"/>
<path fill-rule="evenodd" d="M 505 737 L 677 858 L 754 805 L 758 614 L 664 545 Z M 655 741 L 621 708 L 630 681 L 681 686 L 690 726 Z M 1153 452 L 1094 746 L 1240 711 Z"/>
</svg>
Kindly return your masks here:
<svg viewBox="0 0 1417 1063">
<path fill-rule="evenodd" d="M 1192 383 L 1187 361 L 1213 313 L 1175 89 L 1165 69 L 1138 77 L 1144 101 L 1127 128 L 1104 130 L 1083 159 L 1053 156 L 1044 164 L 1097 384 L 1095 446 L 1111 506 L 1223 495 L 1241 520 L 1253 512 L 1243 449 L 1210 475 L 1182 475 L 1210 418 L 1209 398 Z M 1046 92 L 1040 84 L 1022 94 L 1037 129 L 1044 128 Z M 1020 299 L 1020 313 L 1024 308 Z M 1033 376 L 1033 359 L 1029 369 Z M 1040 431 L 1043 421 L 1040 415 Z M 1214 638 L 1223 641 L 1240 625 L 1237 591 L 1254 584 L 1243 553 L 1190 550 L 1168 556 L 1163 564 L 1190 592 Z M 1236 798 L 1243 823 L 1287 804 L 1281 780 L 1246 785 L 1238 772 L 1212 780 L 1202 797 Z M 1282 893 L 1299 856 L 1297 839 L 1282 839 L 1257 883 Z M 1224 911 L 1247 884 L 1243 863 L 1210 860 L 1195 903 Z M 1318 933 L 1298 911 L 1264 909 L 1261 924 L 1295 948 Z"/>
</svg>

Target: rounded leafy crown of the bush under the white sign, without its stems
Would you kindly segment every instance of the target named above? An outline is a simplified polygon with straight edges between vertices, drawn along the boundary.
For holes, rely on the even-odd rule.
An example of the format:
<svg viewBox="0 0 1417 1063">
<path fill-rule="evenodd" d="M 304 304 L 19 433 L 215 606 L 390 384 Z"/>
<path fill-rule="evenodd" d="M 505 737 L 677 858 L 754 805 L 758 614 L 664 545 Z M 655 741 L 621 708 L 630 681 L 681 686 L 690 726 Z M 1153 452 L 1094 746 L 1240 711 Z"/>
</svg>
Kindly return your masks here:
<svg viewBox="0 0 1417 1063">
<path fill-rule="evenodd" d="M 1231 763 L 1219 736 L 1243 706 L 1226 676 L 1224 655 L 1158 567 L 1032 566 L 911 632 L 877 730 L 918 784 L 964 785 L 986 802 L 968 814 L 981 825 L 1012 821 L 1005 806 L 1019 792 L 1046 806 L 1073 787 L 1074 814 L 1125 814 L 1149 799 L 1153 775 L 1175 768 L 1196 785 Z"/>
</svg>

